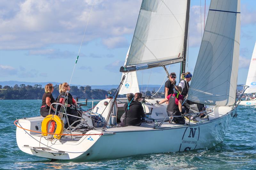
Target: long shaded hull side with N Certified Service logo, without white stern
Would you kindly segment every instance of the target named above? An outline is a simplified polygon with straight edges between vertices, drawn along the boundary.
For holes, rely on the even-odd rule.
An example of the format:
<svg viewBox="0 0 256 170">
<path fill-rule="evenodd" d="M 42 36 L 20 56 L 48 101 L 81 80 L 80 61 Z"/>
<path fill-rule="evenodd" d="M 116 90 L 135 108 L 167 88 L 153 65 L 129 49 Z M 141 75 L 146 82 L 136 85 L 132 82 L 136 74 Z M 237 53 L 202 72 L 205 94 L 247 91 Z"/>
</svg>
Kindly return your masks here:
<svg viewBox="0 0 256 170">
<path fill-rule="evenodd" d="M 143 133 L 132 131 L 116 132 L 111 136 L 103 135 L 81 159 L 113 159 L 138 154 L 211 148 L 223 141 L 232 116 L 233 110 L 216 120 L 198 125 L 143 131 Z M 86 156 L 88 153 L 90 155 Z"/>
</svg>

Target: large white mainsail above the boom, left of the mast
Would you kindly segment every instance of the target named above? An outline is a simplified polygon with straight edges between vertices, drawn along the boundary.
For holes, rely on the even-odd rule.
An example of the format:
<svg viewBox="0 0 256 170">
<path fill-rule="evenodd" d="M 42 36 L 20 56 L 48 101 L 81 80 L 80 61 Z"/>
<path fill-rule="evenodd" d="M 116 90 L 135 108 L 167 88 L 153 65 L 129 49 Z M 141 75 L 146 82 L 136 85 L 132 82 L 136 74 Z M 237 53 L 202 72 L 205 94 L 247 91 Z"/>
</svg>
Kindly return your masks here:
<svg viewBox="0 0 256 170">
<path fill-rule="evenodd" d="M 186 0 L 142 1 L 126 66 L 182 57 Z"/>
</svg>

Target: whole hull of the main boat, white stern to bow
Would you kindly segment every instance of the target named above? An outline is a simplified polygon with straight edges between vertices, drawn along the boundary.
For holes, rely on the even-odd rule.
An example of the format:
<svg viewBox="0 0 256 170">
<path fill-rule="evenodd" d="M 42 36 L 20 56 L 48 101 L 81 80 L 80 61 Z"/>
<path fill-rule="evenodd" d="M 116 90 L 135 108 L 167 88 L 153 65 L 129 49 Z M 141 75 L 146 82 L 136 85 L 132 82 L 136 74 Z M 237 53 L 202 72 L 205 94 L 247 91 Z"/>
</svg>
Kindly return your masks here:
<svg viewBox="0 0 256 170">
<path fill-rule="evenodd" d="M 163 126 L 163 128 L 147 130 L 138 130 L 138 127 L 128 126 L 131 130 L 110 128 L 104 132 L 104 135 L 90 135 L 100 133 L 100 131 L 93 130 L 87 132 L 88 136 L 83 136 L 76 142 L 48 141 L 40 135 L 35 136 L 20 128 L 17 128 L 16 138 L 23 152 L 50 159 L 87 161 L 148 153 L 190 151 L 211 148 L 221 143 L 233 112 L 234 110 L 231 110 L 216 119 L 194 125 Z M 22 121 L 19 121 L 19 125 L 27 129 L 31 126 Z M 36 149 L 37 147 L 41 149 Z M 52 150 L 43 150 L 42 147 Z"/>
</svg>

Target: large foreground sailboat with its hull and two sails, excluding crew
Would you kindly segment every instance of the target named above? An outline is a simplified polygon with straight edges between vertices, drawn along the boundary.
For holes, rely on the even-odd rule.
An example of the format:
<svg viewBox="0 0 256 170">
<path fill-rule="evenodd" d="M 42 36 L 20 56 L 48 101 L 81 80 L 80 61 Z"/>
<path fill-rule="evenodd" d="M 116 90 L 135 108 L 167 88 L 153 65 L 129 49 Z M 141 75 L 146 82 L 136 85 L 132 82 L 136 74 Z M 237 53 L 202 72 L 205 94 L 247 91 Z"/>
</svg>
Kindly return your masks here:
<svg viewBox="0 0 256 170">
<path fill-rule="evenodd" d="M 176 62 L 181 62 L 184 71 L 189 6 L 189 0 L 143 0 L 128 58 L 120 71 L 126 74 Z M 64 131 L 66 135 L 60 139 L 54 138 L 56 135 L 42 136 L 44 117 L 18 119 L 17 144 L 20 150 L 35 156 L 82 161 L 218 145 L 236 116 L 239 41 L 240 0 L 212 1 L 188 94 L 189 100 L 210 105 L 208 119 L 170 124 L 164 121 L 169 119 L 167 105 L 156 104 L 159 99 L 149 97 L 142 103 L 147 123 L 117 127 L 116 117 L 124 112 L 127 99 L 112 97 L 100 101 L 91 112 L 84 112 L 81 124 L 86 128 Z M 191 107 L 189 113 L 197 112 Z M 103 127 L 92 121 L 94 115 L 101 117 Z M 71 133 L 73 136 L 69 136 Z"/>
</svg>

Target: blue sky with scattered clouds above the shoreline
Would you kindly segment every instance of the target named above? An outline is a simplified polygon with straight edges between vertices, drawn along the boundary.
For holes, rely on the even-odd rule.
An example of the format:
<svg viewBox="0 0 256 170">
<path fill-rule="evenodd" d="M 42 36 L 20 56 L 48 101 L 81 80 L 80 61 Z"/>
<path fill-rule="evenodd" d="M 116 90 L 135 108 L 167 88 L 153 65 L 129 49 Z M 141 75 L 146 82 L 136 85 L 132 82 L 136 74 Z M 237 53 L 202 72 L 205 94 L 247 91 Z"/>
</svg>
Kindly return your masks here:
<svg viewBox="0 0 256 170">
<path fill-rule="evenodd" d="M 119 84 L 140 5 L 141 0 L 0 0 L 0 81 L 69 82 L 75 66 L 71 85 Z M 186 71 L 192 73 L 209 5 L 210 0 L 191 0 Z M 256 1 L 241 0 L 238 84 L 245 84 L 255 41 Z M 169 68 L 179 70 L 180 64 Z M 162 67 L 137 76 L 139 84 L 166 80 Z"/>
</svg>

